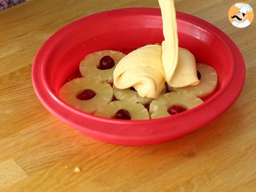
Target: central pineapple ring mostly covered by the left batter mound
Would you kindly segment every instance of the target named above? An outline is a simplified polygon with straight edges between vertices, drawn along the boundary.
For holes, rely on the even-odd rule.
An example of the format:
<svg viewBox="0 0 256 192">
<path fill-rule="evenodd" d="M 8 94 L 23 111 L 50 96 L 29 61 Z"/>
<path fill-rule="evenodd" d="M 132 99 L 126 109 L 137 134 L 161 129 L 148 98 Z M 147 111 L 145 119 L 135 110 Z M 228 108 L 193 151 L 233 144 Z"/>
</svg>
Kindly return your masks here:
<svg viewBox="0 0 256 192">
<path fill-rule="evenodd" d="M 153 99 L 146 98 L 146 97 L 141 97 L 137 93 L 137 91 L 131 90 L 131 89 L 118 89 L 116 86 L 113 84 L 113 93 L 114 96 L 116 97 L 117 100 L 123 101 L 135 101 L 138 103 L 141 103 L 142 105 L 148 104 L 151 102 Z"/>
</svg>

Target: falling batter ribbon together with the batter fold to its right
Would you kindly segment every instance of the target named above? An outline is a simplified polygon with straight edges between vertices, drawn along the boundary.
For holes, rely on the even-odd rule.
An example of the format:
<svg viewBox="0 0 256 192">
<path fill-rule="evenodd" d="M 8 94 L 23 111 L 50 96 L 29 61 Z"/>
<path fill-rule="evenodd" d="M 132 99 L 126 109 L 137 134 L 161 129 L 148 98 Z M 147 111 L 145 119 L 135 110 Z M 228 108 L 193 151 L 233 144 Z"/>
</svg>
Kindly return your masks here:
<svg viewBox="0 0 256 192">
<path fill-rule="evenodd" d="M 171 87 L 199 84 L 195 57 L 187 49 L 178 47 L 178 33 L 174 0 L 158 0 L 162 20 L 162 62 L 165 80 Z"/>
</svg>

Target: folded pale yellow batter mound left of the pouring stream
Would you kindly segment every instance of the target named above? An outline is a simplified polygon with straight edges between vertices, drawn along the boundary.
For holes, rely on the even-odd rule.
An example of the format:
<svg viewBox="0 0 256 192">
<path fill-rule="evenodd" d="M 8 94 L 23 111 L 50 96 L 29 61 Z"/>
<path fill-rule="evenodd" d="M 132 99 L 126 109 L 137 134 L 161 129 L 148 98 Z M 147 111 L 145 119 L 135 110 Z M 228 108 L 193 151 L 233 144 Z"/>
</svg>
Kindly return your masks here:
<svg viewBox="0 0 256 192">
<path fill-rule="evenodd" d="M 116 65 L 113 82 L 119 89 L 134 87 L 142 97 L 155 99 L 165 88 L 160 45 L 147 45 L 130 52 Z"/>
</svg>

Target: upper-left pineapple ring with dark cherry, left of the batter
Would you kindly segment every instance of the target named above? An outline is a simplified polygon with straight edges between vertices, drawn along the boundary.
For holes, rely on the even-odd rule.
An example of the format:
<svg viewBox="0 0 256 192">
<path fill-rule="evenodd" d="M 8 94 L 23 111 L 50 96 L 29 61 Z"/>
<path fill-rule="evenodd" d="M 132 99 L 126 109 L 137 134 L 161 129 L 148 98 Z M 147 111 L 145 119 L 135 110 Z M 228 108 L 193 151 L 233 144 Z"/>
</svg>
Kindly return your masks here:
<svg viewBox="0 0 256 192">
<path fill-rule="evenodd" d="M 111 69 L 100 70 L 99 61 L 102 57 L 109 55 L 115 61 L 115 66 Z M 100 79 L 102 82 L 113 83 L 113 71 L 116 67 L 116 64 L 125 56 L 122 52 L 112 51 L 112 50 L 104 50 L 90 53 L 85 56 L 85 58 L 81 61 L 79 69 L 81 75 L 83 77 L 91 78 L 91 79 Z"/>
</svg>

